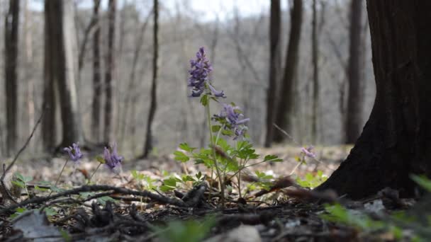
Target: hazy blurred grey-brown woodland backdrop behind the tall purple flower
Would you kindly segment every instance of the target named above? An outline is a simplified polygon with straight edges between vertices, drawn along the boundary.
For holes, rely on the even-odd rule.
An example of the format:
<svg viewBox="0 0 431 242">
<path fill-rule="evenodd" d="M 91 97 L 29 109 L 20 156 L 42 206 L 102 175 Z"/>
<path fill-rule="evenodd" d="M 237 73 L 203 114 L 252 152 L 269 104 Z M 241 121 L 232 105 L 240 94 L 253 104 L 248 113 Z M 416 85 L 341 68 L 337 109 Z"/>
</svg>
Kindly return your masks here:
<svg viewBox="0 0 431 242">
<path fill-rule="evenodd" d="M 6 91 L 5 76 L 13 64 L 10 64 L 10 56 L 7 55 L 8 50 L 11 50 L 8 47 L 11 43 L 7 43 L 7 37 L 0 38 L 1 52 L 5 55 L 0 58 L 0 93 L 3 93 L 0 95 L 0 103 L 3 103 L 0 105 L 0 113 L 3 114 L 0 115 L 2 157 L 13 154 L 12 151 L 16 151 L 16 147 L 28 139 L 43 110 L 46 97 L 44 88 L 47 85 L 45 54 L 53 52 L 49 49 L 52 46 L 45 45 L 47 13 L 44 11 L 44 1 L 1 0 L 0 19 L 5 20 L 1 23 L 6 25 L 0 24 L 0 33 L 8 33 L 6 26 L 8 19 L 13 16 L 10 8 L 13 2 L 19 3 L 16 41 L 17 118 L 16 122 L 7 121 L 6 100 L 14 99 L 13 93 Z M 234 1 L 235 4 L 216 1 L 220 9 L 223 9 L 220 11 L 196 10 L 194 1 L 159 1 L 158 45 L 153 41 L 153 1 L 102 0 L 99 18 L 95 23 L 94 4 L 97 2 L 63 2 L 65 9 L 67 8 L 64 12 L 67 17 L 63 18 L 71 20 L 66 22 L 65 28 L 69 30 L 67 45 L 73 50 L 73 81 L 77 87 L 76 98 L 79 105 L 77 115 L 84 134 L 84 143 L 117 142 L 126 158 L 142 154 L 151 102 L 152 62 L 154 50 L 157 48 L 159 69 L 156 80 L 157 110 L 151 126 L 152 151 L 171 153 L 181 142 L 188 142 L 191 146 L 204 146 L 208 139 L 204 110 L 199 108 L 198 100 L 187 97 L 189 88 L 186 86 L 189 59 L 194 57 L 198 47 L 203 46 L 213 63 L 211 79 L 214 86 L 225 91 L 227 102 L 235 101 L 243 108 L 245 116 L 251 119 L 249 127 L 252 141 L 259 146 L 264 145 L 267 134 L 267 90 L 271 72 L 269 65 L 272 59 L 269 33 L 271 28 L 275 28 L 271 21 L 274 12 L 271 13 L 270 4 L 280 1 L 250 1 L 252 6 L 262 6 L 258 13 L 242 11 L 242 1 Z M 357 1 L 360 3 L 357 11 L 362 12 L 362 18 L 360 28 L 352 29 L 350 22 L 354 1 L 281 1 L 281 25 L 276 30 L 279 33 L 279 45 L 276 49 L 279 55 L 276 60 L 279 70 L 276 74 L 277 83 L 281 83 L 281 73 L 289 68 L 286 67 L 285 59 L 291 31 L 291 10 L 298 2 L 302 4 L 301 35 L 297 47 L 298 69 L 293 77 L 293 91 L 278 94 L 293 98 L 293 113 L 289 115 L 292 125 L 289 132 L 301 144 L 330 146 L 352 143 L 347 141 L 345 135 L 349 110 L 349 80 L 352 81 L 349 78 L 349 59 L 352 58 L 349 43 L 352 41 L 352 31 L 356 31 L 360 36 L 360 42 L 356 45 L 360 51 L 357 52 L 358 57 L 354 57 L 359 62 L 359 66 L 355 68 L 359 72 L 356 83 L 359 85 L 357 91 L 360 94 L 352 100 L 360 108 L 356 111 L 359 131 L 369 116 L 375 96 L 365 2 Z M 111 36 L 110 23 L 114 23 Z M 98 29 L 99 40 L 95 40 Z M 314 41 L 313 32 L 317 33 Z M 94 91 L 96 46 L 100 52 L 100 59 L 97 59 L 101 67 L 101 94 L 95 94 Z M 313 62 L 313 46 L 317 50 L 317 62 Z M 113 59 L 111 68 L 107 68 L 109 56 Z M 111 83 L 107 84 L 108 72 L 111 72 Z M 103 95 L 107 85 L 112 88 L 109 98 Z M 276 90 L 280 91 L 279 88 Z M 61 130 L 67 125 L 62 122 L 60 115 L 60 110 L 64 110 L 61 95 L 58 91 L 54 93 L 53 103 L 57 107 L 55 122 L 50 126 L 45 125 L 45 129 L 37 130 L 26 149 L 30 156 L 51 151 L 62 144 Z M 99 98 L 101 105 L 95 109 L 93 104 L 96 98 Z M 110 117 L 104 114 L 108 100 L 111 100 L 113 105 Z M 317 103 L 317 108 L 313 108 L 313 103 Z M 217 111 L 213 110 L 213 113 Z M 100 117 L 98 124 L 94 124 L 94 115 Z M 106 129 L 106 120 L 111 122 L 109 129 Z M 313 124 L 316 124 L 315 129 Z M 14 129 L 10 125 L 16 125 L 16 145 L 8 147 L 8 144 L 11 144 L 8 132 Z M 46 140 L 43 140 L 47 139 L 46 137 L 53 137 L 50 145 L 46 145 Z"/>
</svg>

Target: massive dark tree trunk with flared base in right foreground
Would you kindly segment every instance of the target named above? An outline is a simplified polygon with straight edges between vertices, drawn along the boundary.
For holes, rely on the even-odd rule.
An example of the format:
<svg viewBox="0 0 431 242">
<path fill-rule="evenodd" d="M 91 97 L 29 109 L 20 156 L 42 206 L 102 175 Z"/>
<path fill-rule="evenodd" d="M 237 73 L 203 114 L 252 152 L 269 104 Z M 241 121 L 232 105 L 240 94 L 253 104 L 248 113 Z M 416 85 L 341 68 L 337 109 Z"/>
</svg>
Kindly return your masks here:
<svg viewBox="0 0 431 242">
<path fill-rule="evenodd" d="M 431 176 L 431 1 L 367 1 L 376 99 L 340 168 L 317 190 L 354 199 L 385 187 L 414 193 L 412 173 Z"/>
</svg>

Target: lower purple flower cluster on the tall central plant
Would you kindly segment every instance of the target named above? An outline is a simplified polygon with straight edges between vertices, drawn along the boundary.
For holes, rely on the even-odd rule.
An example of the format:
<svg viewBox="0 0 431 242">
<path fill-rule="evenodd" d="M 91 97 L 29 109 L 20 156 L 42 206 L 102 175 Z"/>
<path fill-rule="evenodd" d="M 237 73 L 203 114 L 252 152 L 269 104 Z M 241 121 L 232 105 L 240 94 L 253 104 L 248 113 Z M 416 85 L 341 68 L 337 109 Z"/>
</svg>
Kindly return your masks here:
<svg viewBox="0 0 431 242">
<path fill-rule="evenodd" d="M 223 110 L 221 110 L 219 115 L 213 115 L 213 120 L 220 122 L 225 129 L 233 130 L 235 137 L 244 136 L 247 131 L 247 126 L 245 123 L 250 121 L 250 118 L 244 118 L 241 108 L 235 104 L 225 104 L 222 103 Z"/>
</svg>

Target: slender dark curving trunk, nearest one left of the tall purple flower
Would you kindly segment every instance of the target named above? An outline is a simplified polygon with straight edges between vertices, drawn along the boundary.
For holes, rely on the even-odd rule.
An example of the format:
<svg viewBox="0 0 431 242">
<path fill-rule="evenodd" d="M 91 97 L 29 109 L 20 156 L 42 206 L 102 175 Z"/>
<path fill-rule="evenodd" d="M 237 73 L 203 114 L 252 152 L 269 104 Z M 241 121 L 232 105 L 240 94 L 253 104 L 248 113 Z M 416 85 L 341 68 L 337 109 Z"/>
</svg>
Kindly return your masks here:
<svg viewBox="0 0 431 242">
<path fill-rule="evenodd" d="M 151 101 L 148 111 L 147 134 L 145 135 L 144 154 L 142 158 L 147 158 L 152 149 L 152 121 L 154 120 L 157 108 L 157 72 L 159 62 L 159 1 L 154 0 L 154 27 L 153 27 L 153 47 L 152 47 L 152 81 L 151 81 Z"/>
</svg>

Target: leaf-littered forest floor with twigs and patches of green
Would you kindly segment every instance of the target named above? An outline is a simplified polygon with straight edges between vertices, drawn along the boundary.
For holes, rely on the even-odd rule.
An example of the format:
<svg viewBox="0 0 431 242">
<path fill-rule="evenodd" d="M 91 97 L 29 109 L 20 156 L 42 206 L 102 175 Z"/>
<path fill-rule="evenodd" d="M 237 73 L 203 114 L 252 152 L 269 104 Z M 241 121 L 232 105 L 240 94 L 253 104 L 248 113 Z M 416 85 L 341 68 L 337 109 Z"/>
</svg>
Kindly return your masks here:
<svg viewBox="0 0 431 242">
<path fill-rule="evenodd" d="M 247 168 L 247 173 L 264 172 L 274 177 L 273 183 L 288 180 L 289 185 L 281 189 L 271 188 L 272 192 L 260 192 L 250 186 L 242 191 L 241 197 L 233 185 L 234 188 L 227 192 L 224 209 L 220 207 L 217 185 L 208 189 L 208 185 L 186 181 L 174 190 L 160 190 L 166 179 L 181 179 L 184 174 L 207 171 L 191 161 L 174 161 L 171 154 L 147 160 L 126 160 L 119 174 L 101 166 L 88 185 L 86 179 L 98 163 L 84 159 L 78 166 L 66 166 L 58 185 L 61 190 L 52 192 L 52 195 L 44 184 L 57 180 L 65 159 L 20 161 L 12 173 L 24 177 L 30 198 L 22 189 L 16 198 L 18 205 L 2 201 L 0 241 L 413 239 L 411 229 L 400 229 L 392 222 L 382 222 L 396 211 L 403 211 L 415 203 L 414 200 L 400 199 L 396 191 L 386 190 L 361 201 L 349 201 L 342 195 L 311 192 L 306 188 L 323 182 L 345 159 L 350 148 L 316 147 L 318 158 L 302 164 L 296 160 L 301 153 L 297 147 L 258 149 L 257 153 L 262 157 L 274 154 L 284 162 L 261 163 Z M 9 175 L 6 182 L 15 178 Z M 243 183 L 247 185 L 247 181 Z M 325 202 L 343 206 L 330 207 Z M 47 216 L 40 210 L 44 210 Z"/>
</svg>

